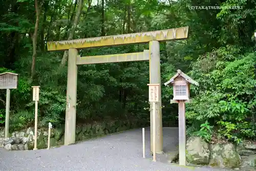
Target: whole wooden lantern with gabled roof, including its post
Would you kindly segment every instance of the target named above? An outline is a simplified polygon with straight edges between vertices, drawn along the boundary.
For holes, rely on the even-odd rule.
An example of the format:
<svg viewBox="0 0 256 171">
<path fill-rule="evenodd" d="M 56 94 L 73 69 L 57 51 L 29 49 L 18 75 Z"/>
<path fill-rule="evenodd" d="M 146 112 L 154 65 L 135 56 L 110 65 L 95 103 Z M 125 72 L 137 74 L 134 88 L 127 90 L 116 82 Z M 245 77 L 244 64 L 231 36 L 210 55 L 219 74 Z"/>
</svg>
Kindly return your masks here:
<svg viewBox="0 0 256 171">
<path fill-rule="evenodd" d="M 185 117 L 185 103 L 190 103 L 189 89 L 190 83 L 199 86 L 198 82 L 191 79 L 181 70 L 177 74 L 165 82 L 165 86 L 173 84 L 174 98 L 170 103 L 179 103 L 179 165 L 186 165 L 186 117 Z"/>
</svg>

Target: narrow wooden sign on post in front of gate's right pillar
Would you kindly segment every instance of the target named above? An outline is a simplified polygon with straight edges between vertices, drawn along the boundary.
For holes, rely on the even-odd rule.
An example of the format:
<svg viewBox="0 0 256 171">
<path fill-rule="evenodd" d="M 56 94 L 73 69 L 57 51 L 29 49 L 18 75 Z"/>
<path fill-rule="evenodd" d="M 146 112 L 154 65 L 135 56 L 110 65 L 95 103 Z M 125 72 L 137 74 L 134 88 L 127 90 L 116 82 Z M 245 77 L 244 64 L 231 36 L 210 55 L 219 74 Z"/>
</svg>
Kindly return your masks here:
<svg viewBox="0 0 256 171">
<path fill-rule="evenodd" d="M 159 102 L 160 84 L 147 84 L 149 88 L 148 101 L 153 102 L 153 161 L 156 161 L 156 102 Z"/>
</svg>

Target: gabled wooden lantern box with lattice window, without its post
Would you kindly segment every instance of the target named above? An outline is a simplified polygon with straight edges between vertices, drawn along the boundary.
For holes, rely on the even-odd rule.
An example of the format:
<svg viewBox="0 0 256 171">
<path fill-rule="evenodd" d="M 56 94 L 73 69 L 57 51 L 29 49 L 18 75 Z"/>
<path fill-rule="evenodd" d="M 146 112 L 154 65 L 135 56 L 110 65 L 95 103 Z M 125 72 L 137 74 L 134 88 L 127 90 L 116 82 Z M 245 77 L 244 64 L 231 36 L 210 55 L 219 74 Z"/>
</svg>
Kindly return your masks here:
<svg viewBox="0 0 256 171">
<path fill-rule="evenodd" d="M 174 100 L 188 100 L 190 83 L 198 86 L 198 82 L 184 74 L 181 70 L 177 71 L 177 74 L 170 78 L 169 81 L 165 82 L 165 86 L 173 84 L 174 87 Z"/>
</svg>

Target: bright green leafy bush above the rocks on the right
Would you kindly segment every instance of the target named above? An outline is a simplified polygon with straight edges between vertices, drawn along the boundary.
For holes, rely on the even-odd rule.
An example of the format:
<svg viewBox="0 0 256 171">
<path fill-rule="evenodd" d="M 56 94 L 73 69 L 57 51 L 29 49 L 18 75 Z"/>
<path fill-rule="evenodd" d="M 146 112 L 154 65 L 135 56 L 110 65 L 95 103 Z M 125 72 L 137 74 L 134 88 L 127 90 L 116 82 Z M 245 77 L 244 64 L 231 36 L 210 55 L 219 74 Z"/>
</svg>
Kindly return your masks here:
<svg viewBox="0 0 256 171">
<path fill-rule="evenodd" d="M 232 61 L 225 61 L 227 56 L 234 55 L 232 53 L 222 56 L 221 49 L 221 53 L 216 51 L 215 58 L 209 55 L 198 60 L 204 65 L 195 63 L 190 74 L 200 82 L 200 87 L 194 88 L 197 96 L 194 103 L 188 105 L 186 116 L 193 124 L 205 119 L 211 124 L 217 123 L 215 129 L 221 136 L 239 143 L 243 138 L 255 137 L 256 54 L 235 55 Z"/>
</svg>

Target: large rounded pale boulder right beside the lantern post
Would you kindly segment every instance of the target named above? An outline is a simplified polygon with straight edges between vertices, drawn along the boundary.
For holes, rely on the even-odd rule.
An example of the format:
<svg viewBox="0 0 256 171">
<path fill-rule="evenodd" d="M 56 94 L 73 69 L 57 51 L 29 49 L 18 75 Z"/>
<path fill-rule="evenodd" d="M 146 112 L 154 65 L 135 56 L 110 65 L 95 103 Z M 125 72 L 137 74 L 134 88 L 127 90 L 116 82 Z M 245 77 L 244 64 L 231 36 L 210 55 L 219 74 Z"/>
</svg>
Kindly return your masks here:
<svg viewBox="0 0 256 171">
<path fill-rule="evenodd" d="M 190 137 L 186 143 L 186 158 L 192 164 L 208 164 L 209 163 L 209 144 L 200 137 Z"/>
</svg>

